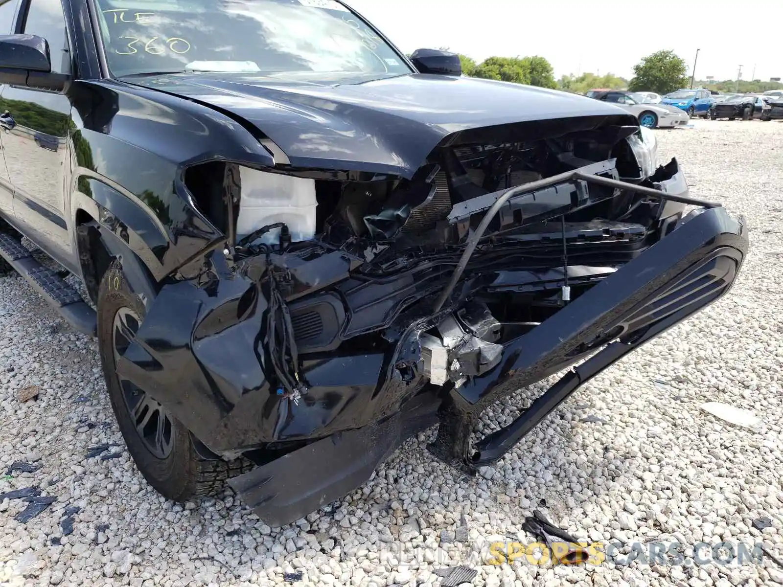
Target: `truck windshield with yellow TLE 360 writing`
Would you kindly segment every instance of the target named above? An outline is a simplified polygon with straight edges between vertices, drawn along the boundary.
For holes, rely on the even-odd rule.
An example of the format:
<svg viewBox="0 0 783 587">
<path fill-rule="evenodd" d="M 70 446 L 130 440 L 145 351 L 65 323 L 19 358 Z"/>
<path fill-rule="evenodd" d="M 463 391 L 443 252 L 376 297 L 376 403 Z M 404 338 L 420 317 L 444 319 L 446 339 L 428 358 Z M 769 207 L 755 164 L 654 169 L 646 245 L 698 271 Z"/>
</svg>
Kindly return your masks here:
<svg viewBox="0 0 783 587">
<path fill-rule="evenodd" d="M 117 77 L 186 70 L 410 74 L 335 0 L 96 0 Z"/>
</svg>

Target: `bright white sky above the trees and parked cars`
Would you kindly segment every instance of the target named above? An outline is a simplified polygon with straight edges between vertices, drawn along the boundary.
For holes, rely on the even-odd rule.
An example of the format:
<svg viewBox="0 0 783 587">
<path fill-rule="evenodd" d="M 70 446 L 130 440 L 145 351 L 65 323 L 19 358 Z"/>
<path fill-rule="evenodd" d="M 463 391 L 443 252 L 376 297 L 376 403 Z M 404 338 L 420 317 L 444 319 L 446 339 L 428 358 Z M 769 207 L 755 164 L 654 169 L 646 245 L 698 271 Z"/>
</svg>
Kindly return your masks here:
<svg viewBox="0 0 783 587">
<path fill-rule="evenodd" d="M 724 5 L 725 2 L 725 5 Z M 783 77 L 783 0 L 347 0 L 403 52 L 448 47 L 477 61 L 546 57 L 555 77 L 633 76 L 644 56 L 671 49 L 696 79 Z M 686 9 L 690 6 L 691 10 Z M 700 10 L 700 13 L 695 10 Z"/>
</svg>

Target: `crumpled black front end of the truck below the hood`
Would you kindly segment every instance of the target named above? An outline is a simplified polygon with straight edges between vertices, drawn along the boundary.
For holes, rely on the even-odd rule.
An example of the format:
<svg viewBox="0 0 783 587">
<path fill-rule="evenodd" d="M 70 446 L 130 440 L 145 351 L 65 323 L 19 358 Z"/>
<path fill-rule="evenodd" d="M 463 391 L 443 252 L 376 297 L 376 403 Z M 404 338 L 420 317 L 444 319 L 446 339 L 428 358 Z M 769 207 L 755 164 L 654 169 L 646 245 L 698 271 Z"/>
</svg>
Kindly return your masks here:
<svg viewBox="0 0 783 587">
<path fill-rule="evenodd" d="M 258 463 L 229 483 L 270 524 L 358 487 L 434 423 L 439 459 L 493 463 L 734 283 L 742 221 L 691 200 L 652 136 L 605 117 L 471 129 L 411 179 L 221 164 L 215 197 L 189 189 L 225 250 L 163 286 L 118 370 L 205 454 Z M 578 362 L 471 446 L 489 404 Z"/>
</svg>

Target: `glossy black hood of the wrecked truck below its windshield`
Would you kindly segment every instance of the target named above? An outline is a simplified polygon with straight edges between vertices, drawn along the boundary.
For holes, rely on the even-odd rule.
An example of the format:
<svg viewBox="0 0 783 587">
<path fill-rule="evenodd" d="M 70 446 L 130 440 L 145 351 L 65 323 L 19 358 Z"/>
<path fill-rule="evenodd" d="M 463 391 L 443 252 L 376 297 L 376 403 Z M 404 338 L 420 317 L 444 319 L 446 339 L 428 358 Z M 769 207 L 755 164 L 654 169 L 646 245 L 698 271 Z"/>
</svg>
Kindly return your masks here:
<svg viewBox="0 0 783 587">
<path fill-rule="evenodd" d="M 622 116 L 582 95 L 473 77 L 193 73 L 126 78 L 253 124 L 294 167 L 410 178 L 453 133 L 568 117 Z M 626 121 L 628 124 L 628 121 Z"/>
</svg>

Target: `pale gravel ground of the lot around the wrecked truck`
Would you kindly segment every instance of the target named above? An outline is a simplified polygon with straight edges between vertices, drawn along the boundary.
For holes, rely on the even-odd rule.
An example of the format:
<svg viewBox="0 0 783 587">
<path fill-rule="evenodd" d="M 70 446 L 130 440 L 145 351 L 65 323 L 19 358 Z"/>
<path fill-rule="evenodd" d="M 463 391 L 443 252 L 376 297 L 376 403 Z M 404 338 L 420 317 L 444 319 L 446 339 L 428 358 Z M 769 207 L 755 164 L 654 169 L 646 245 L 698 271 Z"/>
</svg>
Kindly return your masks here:
<svg viewBox="0 0 783 587">
<path fill-rule="evenodd" d="M 691 548 L 673 565 L 634 559 L 634 543 L 723 540 L 763 541 L 783 558 L 783 124 L 657 133 L 691 193 L 749 221 L 752 251 L 731 295 L 597 377 L 480 476 L 433 460 L 431 432 L 421 434 L 363 488 L 287 528 L 229 492 L 180 506 L 148 488 L 114 423 L 95 342 L 22 279 L 0 279 L 0 474 L 41 465 L 0 478 L 0 493 L 38 486 L 56 499 L 27 524 L 14 519 L 27 502 L 0 503 L 0 585 L 272 585 L 294 571 L 305 584 L 439 585 L 435 570 L 463 563 L 478 571 L 474 585 L 493 587 L 783 583 L 769 556 L 696 564 Z M 31 385 L 38 401 L 20 403 Z M 494 406 L 482 425 L 507 423 L 535 392 Z M 725 423 L 704 402 L 749 409 L 760 424 Z M 98 445 L 110 447 L 88 458 Z M 520 524 L 535 508 L 619 548 L 583 567 L 486 564 L 491 542 L 532 542 Z M 770 526 L 758 531 L 761 518 Z"/>
</svg>

